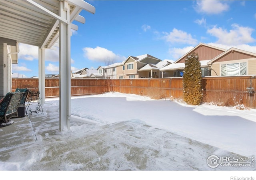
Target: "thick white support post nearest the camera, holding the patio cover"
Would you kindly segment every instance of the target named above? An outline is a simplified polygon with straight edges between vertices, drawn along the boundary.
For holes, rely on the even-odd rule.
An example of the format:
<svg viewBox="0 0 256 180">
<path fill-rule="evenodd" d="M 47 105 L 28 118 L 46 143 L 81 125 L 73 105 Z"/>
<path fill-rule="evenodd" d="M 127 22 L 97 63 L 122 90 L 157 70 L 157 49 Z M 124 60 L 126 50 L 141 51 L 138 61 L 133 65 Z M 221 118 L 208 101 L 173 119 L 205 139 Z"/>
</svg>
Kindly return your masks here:
<svg viewBox="0 0 256 180">
<path fill-rule="evenodd" d="M 70 22 L 70 9 L 66 1 L 60 1 L 59 15 Z M 59 22 L 60 45 L 60 131 L 70 129 L 71 115 L 71 64 L 70 64 L 70 23 Z"/>
</svg>

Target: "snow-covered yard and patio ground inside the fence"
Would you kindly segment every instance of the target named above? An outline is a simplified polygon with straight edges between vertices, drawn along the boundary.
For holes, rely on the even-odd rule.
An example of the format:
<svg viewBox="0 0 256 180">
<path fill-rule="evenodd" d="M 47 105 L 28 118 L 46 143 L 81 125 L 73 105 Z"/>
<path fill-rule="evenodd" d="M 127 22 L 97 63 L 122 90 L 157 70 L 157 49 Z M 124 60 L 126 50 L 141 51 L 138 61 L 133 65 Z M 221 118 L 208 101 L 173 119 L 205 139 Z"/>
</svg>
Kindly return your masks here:
<svg viewBox="0 0 256 180">
<path fill-rule="evenodd" d="M 114 92 L 73 97 L 72 115 L 85 122 L 72 120 L 69 132 L 59 132 L 58 104 L 47 99 L 44 114 L 27 117 L 30 142 L 2 146 L 0 170 L 256 170 L 206 162 L 210 155 L 255 155 L 254 109 Z"/>
</svg>

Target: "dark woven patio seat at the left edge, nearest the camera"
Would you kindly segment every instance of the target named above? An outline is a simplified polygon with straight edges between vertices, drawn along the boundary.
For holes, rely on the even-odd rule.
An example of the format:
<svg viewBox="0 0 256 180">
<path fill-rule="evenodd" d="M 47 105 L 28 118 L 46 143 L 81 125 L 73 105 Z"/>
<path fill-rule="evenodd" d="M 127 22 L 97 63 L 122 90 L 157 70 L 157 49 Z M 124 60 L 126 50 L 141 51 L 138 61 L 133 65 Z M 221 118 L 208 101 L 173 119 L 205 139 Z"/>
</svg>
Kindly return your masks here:
<svg viewBox="0 0 256 180">
<path fill-rule="evenodd" d="M 10 118 L 18 117 L 18 106 L 25 92 L 8 92 L 0 96 L 0 127 L 13 123 Z"/>
</svg>

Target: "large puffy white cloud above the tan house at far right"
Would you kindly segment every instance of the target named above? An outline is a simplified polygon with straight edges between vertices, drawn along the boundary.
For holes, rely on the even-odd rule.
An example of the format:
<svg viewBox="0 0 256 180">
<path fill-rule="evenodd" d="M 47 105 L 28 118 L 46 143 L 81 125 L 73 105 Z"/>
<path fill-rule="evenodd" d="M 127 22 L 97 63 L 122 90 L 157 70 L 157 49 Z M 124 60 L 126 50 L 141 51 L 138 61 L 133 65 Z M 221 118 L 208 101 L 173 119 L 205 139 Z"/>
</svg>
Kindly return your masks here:
<svg viewBox="0 0 256 180">
<path fill-rule="evenodd" d="M 218 44 L 234 46 L 256 41 L 251 36 L 254 29 L 249 27 L 242 27 L 238 24 L 232 24 L 232 28 L 233 29 L 228 32 L 226 29 L 217 28 L 214 26 L 212 29 L 208 29 L 207 32 L 218 38 L 216 42 Z"/>
</svg>

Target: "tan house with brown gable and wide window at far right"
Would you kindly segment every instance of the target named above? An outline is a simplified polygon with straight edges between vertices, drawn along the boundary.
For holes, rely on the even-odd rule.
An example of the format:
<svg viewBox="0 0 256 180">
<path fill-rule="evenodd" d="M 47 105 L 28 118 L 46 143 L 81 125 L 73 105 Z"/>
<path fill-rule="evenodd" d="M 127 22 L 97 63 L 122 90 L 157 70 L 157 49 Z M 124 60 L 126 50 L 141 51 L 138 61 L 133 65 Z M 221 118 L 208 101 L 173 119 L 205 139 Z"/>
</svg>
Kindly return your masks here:
<svg viewBox="0 0 256 180">
<path fill-rule="evenodd" d="M 244 50 L 230 48 L 213 58 L 212 76 L 244 76 L 256 75 L 256 54 Z"/>
</svg>

